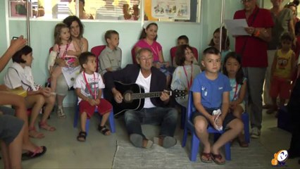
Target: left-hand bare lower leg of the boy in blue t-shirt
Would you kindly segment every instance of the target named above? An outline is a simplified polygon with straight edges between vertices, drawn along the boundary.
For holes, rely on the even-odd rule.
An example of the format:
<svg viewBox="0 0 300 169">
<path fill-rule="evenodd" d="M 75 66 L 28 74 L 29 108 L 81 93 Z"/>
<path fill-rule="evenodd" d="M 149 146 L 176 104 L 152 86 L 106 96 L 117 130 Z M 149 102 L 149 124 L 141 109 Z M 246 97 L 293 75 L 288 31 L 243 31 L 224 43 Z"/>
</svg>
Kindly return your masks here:
<svg viewBox="0 0 300 169">
<path fill-rule="evenodd" d="M 204 153 L 210 154 L 211 153 L 211 143 L 208 140 L 208 132 L 207 132 L 207 126 L 208 126 L 208 121 L 204 116 L 196 116 L 194 118 L 194 126 L 195 126 L 195 131 L 196 135 L 199 137 L 201 142 L 204 144 Z M 201 157 L 202 158 L 202 157 Z M 207 159 L 209 160 L 209 159 Z"/>
</svg>

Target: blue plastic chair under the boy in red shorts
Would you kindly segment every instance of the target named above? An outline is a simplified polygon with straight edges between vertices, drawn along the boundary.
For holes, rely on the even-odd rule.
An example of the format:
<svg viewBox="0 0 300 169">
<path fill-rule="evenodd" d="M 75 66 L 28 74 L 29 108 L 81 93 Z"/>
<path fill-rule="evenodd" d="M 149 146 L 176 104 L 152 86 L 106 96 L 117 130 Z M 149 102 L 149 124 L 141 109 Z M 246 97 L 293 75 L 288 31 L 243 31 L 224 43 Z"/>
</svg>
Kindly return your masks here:
<svg viewBox="0 0 300 169">
<path fill-rule="evenodd" d="M 95 108 L 95 113 L 97 113 L 98 110 L 97 108 Z M 100 120 L 102 118 L 101 115 L 100 116 Z M 74 115 L 74 123 L 73 123 L 73 127 L 76 128 L 77 127 L 77 123 L 78 123 L 78 118 L 79 118 L 79 106 L 77 105 L 77 99 L 76 99 L 76 110 L 75 110 L 75 115 Z M 109 121 L 109 127 L 111 128 L 111 132 L 114 133 L 115 132 L 115 119 L 113 118 L 113 109 L 111 109 L 111 113 L 108 117 L 108 121 Z M 85 132 L 87 132 L 87 134 L 89 133 L 89 118 L 87 118 L 87 122 L 85 123 Z"/>
</svg>

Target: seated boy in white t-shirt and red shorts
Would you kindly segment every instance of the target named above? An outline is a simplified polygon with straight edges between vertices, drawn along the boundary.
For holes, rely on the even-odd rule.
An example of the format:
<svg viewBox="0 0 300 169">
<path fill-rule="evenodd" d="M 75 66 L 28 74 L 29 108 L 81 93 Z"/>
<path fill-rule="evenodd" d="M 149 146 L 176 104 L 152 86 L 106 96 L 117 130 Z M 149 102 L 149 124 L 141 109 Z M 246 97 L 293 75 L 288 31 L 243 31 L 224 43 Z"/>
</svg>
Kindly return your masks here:
<svg viewBox="0 0 300 169">
<path fill-rule="evenodd" d="M 83 71 L 77 76 L 74 84 L 75 92 L 78 96 L 81 127 L 77 140 L 85 142 L 87 137 L 85 123 L 87 118 L 92 117 L 95 108 L 102 115 L 101 123 L 98 126 L 99 132 L 104 135 L 111 134 L 111 131 L 105 124 L 113 106 L 106 99 L 101 98 L 102 89 L 105 86 L 101 75 L 96 73 L 96 56 L 91 52 L 84 52 L 80 54 L 79 63 Z"/>
</svg>

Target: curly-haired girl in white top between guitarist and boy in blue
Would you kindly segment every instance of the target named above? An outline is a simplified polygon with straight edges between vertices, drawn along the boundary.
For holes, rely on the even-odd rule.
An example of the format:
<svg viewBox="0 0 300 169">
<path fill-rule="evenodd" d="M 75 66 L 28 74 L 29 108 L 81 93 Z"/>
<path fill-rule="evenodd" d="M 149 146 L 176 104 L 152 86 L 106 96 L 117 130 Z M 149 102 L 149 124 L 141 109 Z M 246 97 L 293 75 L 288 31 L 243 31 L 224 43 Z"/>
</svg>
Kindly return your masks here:
<svg viewBox="0 0 300 169">
<path fill-rule="evenodd" d="M 173 79 L 171 83 L 171 89 L 186 90 L 189 92 L 189 88 L 192 86 L 192 82 L 196 75 L 201 73 L 199 65 L 193 64 L 194 54 L 192 47 L 187 44 L 182 44 L 177 47 L 175 63 L 177 68 L 173 73 Z M 176 102 L 181 106 L 187 107 L 187 98 L 176 98 Z"/>
</svg>

